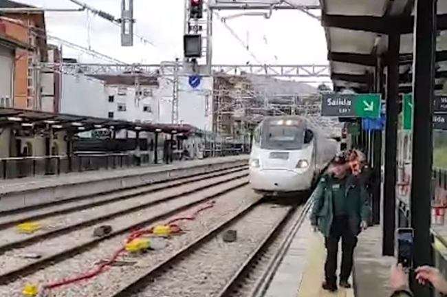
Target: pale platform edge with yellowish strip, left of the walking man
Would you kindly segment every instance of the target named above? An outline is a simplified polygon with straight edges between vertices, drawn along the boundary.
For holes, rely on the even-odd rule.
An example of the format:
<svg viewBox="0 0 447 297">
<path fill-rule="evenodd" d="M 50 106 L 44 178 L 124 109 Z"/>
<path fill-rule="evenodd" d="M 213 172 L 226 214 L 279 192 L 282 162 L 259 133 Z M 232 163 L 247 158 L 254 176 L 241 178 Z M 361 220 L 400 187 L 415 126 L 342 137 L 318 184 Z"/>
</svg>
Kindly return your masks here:
<svg viewBox="0 0 447 297">
<path fill-rule="evenodd" d="M 264 296 L 353 297 L 353 289 L 339 288 L 338 292 L 330 293 L 321 287 L 325 259 L 326 250 L 323 236 L 312 231 L 307 218 L 300 230 L 296 232 L 296 236 Z M 352 278 L 350 281 L 352 282 Z"/>
</svg>

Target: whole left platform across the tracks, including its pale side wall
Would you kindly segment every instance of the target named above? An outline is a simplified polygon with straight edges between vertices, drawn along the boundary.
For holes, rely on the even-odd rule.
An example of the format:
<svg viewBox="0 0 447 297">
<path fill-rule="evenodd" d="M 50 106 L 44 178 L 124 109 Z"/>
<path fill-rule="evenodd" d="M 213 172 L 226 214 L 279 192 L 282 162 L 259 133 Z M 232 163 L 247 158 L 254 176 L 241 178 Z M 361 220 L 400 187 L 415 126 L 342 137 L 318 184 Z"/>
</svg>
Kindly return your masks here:
<svg viewBox="0 0 447 297">
<path fill-rule="evenodd" d="M 248 155 L 0 181 L 0 212 L 247 164 Z"/>
</svg>

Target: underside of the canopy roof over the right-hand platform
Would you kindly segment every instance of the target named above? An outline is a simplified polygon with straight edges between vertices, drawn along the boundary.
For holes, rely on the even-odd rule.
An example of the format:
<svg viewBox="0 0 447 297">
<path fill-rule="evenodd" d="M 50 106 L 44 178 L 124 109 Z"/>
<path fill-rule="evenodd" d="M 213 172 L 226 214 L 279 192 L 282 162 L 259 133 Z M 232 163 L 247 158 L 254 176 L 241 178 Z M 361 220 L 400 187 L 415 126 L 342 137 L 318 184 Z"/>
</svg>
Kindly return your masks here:
<svg viewBox="0 0 447 297">
<path fill-rule="evenodd" d="M 400 28 L 400 92 L 412 91 L 415 0 L 320 0 L 334 89 L 369 91 L 378 56 L 388 59 L 388 34 Z M 447 0 L 437 1 L 436 89 L 447 78 Z"/>
</svg>

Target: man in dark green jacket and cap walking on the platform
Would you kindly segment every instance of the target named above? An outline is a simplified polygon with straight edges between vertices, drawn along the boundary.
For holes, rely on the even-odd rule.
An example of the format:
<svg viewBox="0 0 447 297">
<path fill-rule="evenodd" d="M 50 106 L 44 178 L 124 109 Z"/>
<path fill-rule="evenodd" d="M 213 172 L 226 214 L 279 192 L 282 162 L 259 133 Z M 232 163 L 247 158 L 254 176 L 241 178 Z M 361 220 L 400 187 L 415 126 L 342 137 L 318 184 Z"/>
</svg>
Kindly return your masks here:
<svg viewBox="0 0 447 297">
<path fill-rule="evenodd" d="M 314 229 L 325 236 L 327 258 L 325 263 L 325 281 L 323 289 L 337 290 L 338 242 L 342 240 L 342 263 L 340 287 L 349 288 L 348 278 L 353 265 L 353 251 L 357 236 L 367 228 L 369 219 L 369 199 L 367 191 L 358 179 L 349 173 L 345 157 L 337 155 L 329 166 L 311 199 L 314 206 L 310 216 Z"/>
</svg>

